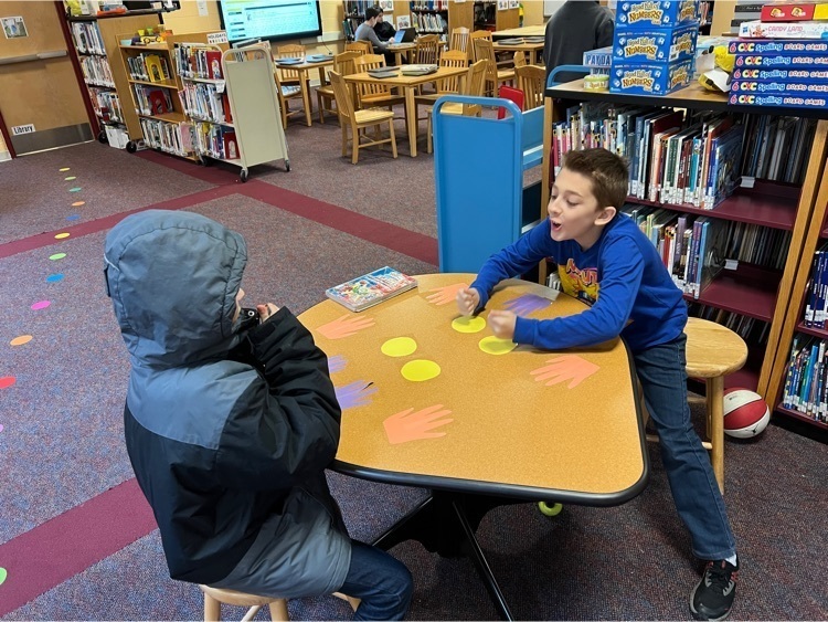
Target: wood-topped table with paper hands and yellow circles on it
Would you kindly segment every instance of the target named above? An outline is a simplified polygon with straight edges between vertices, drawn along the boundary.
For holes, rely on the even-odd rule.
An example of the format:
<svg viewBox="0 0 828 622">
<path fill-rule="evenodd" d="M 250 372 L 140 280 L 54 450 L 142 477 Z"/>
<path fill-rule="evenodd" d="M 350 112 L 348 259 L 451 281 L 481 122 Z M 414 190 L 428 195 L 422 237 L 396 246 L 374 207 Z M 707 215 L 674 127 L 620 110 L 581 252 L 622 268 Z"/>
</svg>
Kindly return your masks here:
<svg viewBox="0 0 828 622">
<path fill-rule="evenodd" d="M 417 539 L 442 555 L 467 546 L 509 620 L 475 530 L 498 505 L 544 499 L 607 506 L 644 489 L 647 457 L 631 361 L 620 339 L 561 352 L 518 346 L 486 354 L 480 342 L 493 338 L 488 326 L 478 333 L 453 329 L 459 317 L 456 285 L 474 275 L 416 278 L 418 288 L 359 314 L 326 301 L 299 316 L 329 357 L 342 405 L 333 468 L 431 488 L 432 496 L 375 544 L 388 549 Z M 487 308 L 514 305 L 535 318 L 586 308 L 565 294 L 516 280 L 503 282 Z M 485 310 L 479 317 L 487 316 Z M 396 338 L 406 340 L 391 341 Z M 407 349 L 383 354 L 394 344 Z M 542 368 L 550 369 L 539 372 Z M 412 369 L 438 375 L 406 380 L 403 373 Z M 553 378 L 545 373 L 558 375 L 558 382 L 546 386 Z"/>
</svg>

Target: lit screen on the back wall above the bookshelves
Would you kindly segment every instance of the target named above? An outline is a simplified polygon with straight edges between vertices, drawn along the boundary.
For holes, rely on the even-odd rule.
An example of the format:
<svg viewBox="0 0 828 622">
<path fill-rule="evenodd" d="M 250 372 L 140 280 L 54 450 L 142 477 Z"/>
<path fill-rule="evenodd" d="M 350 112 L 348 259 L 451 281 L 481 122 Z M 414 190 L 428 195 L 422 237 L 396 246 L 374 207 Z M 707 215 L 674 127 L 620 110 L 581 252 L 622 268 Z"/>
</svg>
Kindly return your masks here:
<svg viewBox="0 0 828 622">
<path fill-rule="evenodd" d="M 222 28 L 227 40 L 279 41 L 322 33 L 319 0 L 221 0 Z"/>
</svg>

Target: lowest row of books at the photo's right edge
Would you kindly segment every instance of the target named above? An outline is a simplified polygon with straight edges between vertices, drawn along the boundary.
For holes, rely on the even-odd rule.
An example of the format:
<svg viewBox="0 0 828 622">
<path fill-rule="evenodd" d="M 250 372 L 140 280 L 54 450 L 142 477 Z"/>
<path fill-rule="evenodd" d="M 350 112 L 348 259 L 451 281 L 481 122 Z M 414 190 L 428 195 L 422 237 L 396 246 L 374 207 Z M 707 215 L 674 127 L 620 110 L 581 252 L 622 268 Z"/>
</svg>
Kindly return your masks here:
<svg viewBox="0 0 828 622">
<path fill-rule="evenodd" d="M 790 348 L 782 405 L 828 421 L 828 360 L 825 339 L 797 336 Z"/>
</svg>

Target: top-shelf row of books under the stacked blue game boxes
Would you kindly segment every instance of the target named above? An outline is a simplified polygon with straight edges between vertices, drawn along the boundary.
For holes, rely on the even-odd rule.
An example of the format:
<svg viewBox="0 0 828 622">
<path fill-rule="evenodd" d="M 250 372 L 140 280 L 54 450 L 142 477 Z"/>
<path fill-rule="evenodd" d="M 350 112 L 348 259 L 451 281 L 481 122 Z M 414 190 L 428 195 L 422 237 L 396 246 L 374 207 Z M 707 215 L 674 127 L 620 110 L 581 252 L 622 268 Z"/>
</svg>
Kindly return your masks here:
<svg viewBox="0 0 828 622">
<path fill-rule="evenodd" d="M 551 160 L 556 175 L 567 151 L 603 147 L 629 164 L 631 197 L 712 209 L 742 176 L 802 182 L 815 127 L 795 117 L 585 102 L 553 124 Z"/>
</svg>

